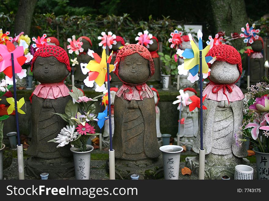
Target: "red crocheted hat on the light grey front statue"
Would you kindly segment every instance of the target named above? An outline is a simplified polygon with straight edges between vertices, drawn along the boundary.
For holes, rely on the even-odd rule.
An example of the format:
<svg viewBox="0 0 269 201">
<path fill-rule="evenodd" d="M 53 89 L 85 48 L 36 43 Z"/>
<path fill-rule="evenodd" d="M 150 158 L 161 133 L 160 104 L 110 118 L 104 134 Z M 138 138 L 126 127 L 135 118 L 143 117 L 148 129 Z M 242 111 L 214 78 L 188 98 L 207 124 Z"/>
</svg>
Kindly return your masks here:
<svg viewBox="0 0 269 201">
<path fill-rule="evenodd" d="M 226 61 L 230 64 L 237 64 L 240 75 L 234 83 L 240 79 L 242 74 L 242 61 L 239 52 L 234 47 L 226 44 L 216 45 L 208 51 L 206 56 L 216 57 L 216 61 Z M 210 63 L 208 63 L 208 67 L 211 67 Z M 210 76 L 208 76 L 208 80 L 210 80 Z"/>
</svg>

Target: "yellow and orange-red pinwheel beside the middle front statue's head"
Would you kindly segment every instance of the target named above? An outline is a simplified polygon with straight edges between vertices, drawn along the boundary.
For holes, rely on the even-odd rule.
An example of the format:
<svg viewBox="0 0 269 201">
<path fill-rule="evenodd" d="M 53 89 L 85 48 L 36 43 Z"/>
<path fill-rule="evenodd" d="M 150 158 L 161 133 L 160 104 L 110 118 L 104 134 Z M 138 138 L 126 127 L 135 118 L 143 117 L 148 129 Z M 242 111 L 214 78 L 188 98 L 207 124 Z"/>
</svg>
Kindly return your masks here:
<svg viewBox="0 0 269 201">
<path fill-rule="evenodd" d="M 107 82 L 106 63 L 111 62 L 112 54 L 109 56 L 109 58 L 106 61 L 105 49 L 103 49 L 102 58 L 100 58 L 97 53 L 94 53 L 93 51 L 90 52 L 89 55 L 92 56 L 95 60 L 90 60 L 90 62 L 86 66 L 86 68 L 89 69 L 89 81 L 94 80 L 100 87 L 104 84 L 104 82 Z M 114 69 L 114 65 L 109 64 L 109 73 L 111 73 L 113 69 Z M 109 75 L 109 79 L 111 79 L 110 75 Z"/>
</svg>

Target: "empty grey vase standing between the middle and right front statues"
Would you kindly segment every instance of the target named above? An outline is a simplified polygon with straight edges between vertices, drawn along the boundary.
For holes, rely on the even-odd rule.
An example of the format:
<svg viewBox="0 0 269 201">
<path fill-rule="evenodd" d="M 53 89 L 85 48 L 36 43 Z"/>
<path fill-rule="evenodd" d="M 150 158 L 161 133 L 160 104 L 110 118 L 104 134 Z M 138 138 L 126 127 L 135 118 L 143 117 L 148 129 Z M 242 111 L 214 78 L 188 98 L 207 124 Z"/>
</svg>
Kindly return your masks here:
<svg viewBox="0 0 269 201">
<path fill-rule="evenodd" d="M 164 145 L 160 147 L 163 154 L 164 179 L 179 179 L 180 153 L 183 148 L 178 145 Z"/>
</svg>

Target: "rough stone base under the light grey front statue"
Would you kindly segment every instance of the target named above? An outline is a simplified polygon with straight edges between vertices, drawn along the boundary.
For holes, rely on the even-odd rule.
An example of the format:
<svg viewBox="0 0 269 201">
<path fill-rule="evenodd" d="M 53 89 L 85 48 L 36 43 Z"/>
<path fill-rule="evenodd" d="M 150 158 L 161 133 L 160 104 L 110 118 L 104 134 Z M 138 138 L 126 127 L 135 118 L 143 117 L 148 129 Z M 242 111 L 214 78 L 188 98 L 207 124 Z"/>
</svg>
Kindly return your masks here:
<svg viewBox="0 0 269 201">
<path fill-rule="evenodd" d="M 205 179 L 221 179 L 224 175 L 234 179 L 235 166 L 239 164 L 250 164 L 249 160 L 246 158 L 227 157 L 226 155 L 215 154 L 208 155 L 206 155 L 205 158 Z M 190 168 L 192 173 L 198 176 L 199 156 L 186 157 L 186 167 Z"/>
</svg>

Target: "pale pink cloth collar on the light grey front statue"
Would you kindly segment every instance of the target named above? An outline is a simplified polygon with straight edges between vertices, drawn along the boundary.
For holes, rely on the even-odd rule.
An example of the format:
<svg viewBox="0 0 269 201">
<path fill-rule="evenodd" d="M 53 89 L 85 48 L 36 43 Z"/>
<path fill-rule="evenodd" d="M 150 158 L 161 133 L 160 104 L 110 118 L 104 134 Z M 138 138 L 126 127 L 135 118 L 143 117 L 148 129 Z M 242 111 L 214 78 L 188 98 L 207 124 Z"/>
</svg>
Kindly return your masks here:
<svg viewBox="0 0 269 201">
<path fill-rule="evenodd" d="M 215 84 L 209 83 L 205 87 L 205 89 L 203 91 L 203 96 L 206 95 L 206 99 L 211 99 L 211 100 L 215 100 L 215 101 L 223 101 L 223 100 L 227 101 L 227 100 L 229 100 L 229 102 L 234 102 L 234 101 L 242 100 L 245 98 L 241 89 L 238 86 L 236 86 L 235 84 L 230 85 L 232 92 L 229 92 L 228 90 L 225 91 L 227 97 L 225 94 L 223 94 L 223 88 L 221 88 L 216 93 L 213 93 L 212 89 L 215 86 L 216 86 Z"/>
</svg>

